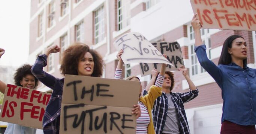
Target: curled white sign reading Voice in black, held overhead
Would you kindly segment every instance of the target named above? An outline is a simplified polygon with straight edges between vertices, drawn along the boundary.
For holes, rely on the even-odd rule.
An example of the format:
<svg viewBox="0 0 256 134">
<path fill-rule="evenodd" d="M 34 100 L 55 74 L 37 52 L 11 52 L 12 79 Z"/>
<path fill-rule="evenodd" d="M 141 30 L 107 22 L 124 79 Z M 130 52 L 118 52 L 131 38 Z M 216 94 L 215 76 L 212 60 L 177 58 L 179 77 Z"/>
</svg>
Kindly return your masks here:
<svg viewBox="0 0 256 134">
<path fill-rule="evenodd" d="M 124 64 L 129 63 L 165 63 L 172 65 L 141 33 L 126 33 L 114 41 Z M 173 65 L 172 65 L 173 66 Z"/>
</svg>

